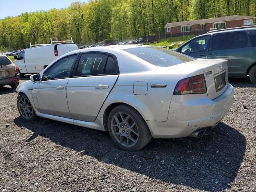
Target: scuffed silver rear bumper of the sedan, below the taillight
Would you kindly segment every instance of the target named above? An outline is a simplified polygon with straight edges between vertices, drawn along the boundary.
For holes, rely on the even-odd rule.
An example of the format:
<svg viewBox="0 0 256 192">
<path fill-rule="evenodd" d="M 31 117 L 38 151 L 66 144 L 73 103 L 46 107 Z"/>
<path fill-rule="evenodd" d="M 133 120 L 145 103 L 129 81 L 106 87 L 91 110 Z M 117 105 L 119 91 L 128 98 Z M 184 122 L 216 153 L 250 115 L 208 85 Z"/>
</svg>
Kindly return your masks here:
<svg viewBox="0 0 256 192">
<path fill-rule="evenodd" d="M 214 127 L 230 110 L 234 88 L 228 84 L 225 92 L 211 100 L 205 94 L 173 95 L 166 122 L 147 121 L 153 138 L 187 137 L 195 130 Z"/>
</svg>

